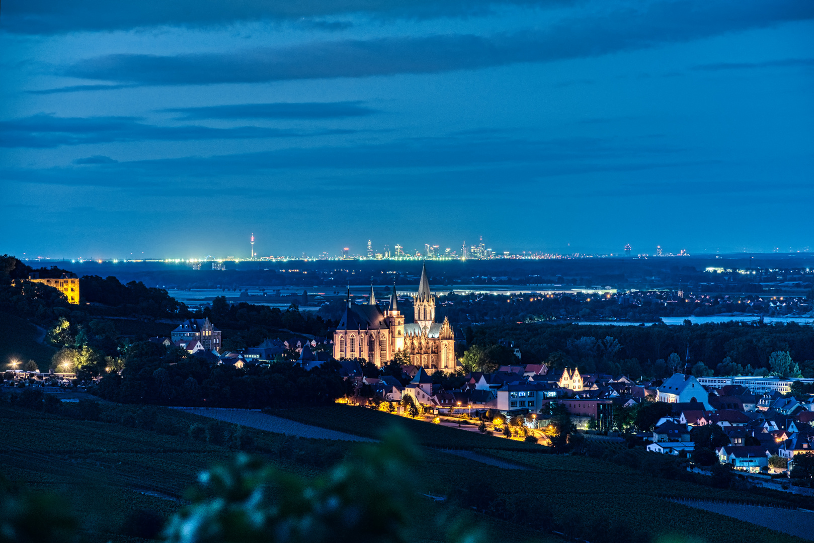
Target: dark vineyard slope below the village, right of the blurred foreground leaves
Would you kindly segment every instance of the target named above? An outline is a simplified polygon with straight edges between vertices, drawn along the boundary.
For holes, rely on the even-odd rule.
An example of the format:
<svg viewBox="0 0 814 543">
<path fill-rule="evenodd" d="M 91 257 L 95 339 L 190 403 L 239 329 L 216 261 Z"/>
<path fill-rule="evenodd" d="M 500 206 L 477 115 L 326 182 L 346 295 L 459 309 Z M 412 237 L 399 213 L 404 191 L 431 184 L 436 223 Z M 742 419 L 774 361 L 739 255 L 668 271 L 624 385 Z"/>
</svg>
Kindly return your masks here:
<svg viewBox="0 0 814 543">
<path fill-rule="evenodd" d="M 451 495 L 454 489 L 473 479 L 485 480 L 507 502 L 525 500 L 533 507 L 549 507 L 550 514 L 560 523 L 574 519 L 575 523 L 607 524 L 624 519 L 634 532 L 630 541 L 641 541 L 636 534 L 642 533 L 648 536 L 681 533 L 716 543 L 795 539 L 670 501 L 685 498 L 792 506 L 793 502 L 786 501 L 781 493 L 747 493 L 661 479 L 603 460 L 554 455 L 545 453 L 539 445 L 479 436 L 373 409 L 335 405 L 330 409 L 279 409 L 274 414 L 369 437 L 378 436 L 393 423 L 402 424 L 419 444 L 427 446 L 423 449 L 422 474 L 427 492 L 433 495 Z M 437 448 L 470 449 L 532 469 L 500 469 L 445 454 Z"/>
</svg>

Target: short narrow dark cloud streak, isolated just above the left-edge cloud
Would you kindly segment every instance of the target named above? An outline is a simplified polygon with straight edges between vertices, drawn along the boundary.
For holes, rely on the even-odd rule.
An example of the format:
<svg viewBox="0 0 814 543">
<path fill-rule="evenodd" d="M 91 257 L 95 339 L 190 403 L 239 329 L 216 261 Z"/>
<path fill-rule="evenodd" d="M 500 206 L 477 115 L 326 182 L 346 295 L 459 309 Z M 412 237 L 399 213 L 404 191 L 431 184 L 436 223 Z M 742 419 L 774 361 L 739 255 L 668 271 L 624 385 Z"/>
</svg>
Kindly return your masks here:
<svg viewBox="0 0 814 543">
<path fill-rule="evenodd" d="M 182 120 L 200 119 L 340 119 L 376 113 L 361 102 L 240 103 L 207 107 L 172 107 L 161 112 L 182 113 Z"/>
</svg>

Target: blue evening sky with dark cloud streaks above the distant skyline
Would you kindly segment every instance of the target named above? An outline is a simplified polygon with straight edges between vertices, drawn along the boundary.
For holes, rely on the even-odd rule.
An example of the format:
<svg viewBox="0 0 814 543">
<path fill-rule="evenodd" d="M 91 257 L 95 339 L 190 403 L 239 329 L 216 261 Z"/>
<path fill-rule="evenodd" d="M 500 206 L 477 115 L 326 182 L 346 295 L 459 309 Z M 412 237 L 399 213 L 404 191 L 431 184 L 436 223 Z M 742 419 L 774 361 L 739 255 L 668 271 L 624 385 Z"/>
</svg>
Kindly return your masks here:
<svg viewBox="0 0 814 543">
<path fill-rule="evenodd" d="M 805 250 L 811 0 L 3 0 L 0 252 Z"/>
</svg>

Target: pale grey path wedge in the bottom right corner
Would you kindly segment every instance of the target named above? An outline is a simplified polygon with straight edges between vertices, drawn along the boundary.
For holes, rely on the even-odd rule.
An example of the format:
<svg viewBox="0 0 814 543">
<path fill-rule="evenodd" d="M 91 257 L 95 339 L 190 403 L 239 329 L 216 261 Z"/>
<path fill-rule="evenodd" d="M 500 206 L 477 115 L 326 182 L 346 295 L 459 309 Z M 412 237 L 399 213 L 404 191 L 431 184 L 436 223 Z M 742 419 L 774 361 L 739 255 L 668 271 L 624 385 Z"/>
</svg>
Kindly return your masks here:
<svg viewBox="0 0 814 543">
<path fill-rule="evenodd" d="M 725 501 L 672 500 L 685 506 L 697 507 L 727 515 L 747 523 L 777 530 L 792 536 L 814 541 L 814 513 L 779 507 L 746 506 Z"/>
</svg>

